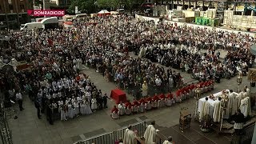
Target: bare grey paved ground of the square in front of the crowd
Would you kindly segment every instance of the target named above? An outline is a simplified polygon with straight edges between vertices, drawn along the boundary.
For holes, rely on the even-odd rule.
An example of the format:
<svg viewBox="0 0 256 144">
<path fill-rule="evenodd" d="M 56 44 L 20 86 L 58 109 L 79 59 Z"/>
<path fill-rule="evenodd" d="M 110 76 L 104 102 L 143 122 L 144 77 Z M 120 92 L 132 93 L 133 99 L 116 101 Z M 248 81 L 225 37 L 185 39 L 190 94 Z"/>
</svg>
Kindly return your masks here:
<svg viewBox="0 0 256 144">
<path fill-rule="evenodd" d="M 221 57 L 223 58 L 225 54 L 226 52 L 222 52 Z M 117 88 L 113 82 L 106 82 L 102 74 L 96 73 L 94 69 L 86 68 L 83 72 L 90 75 L 91 82 L 94 82 L 94 85 L 102 90 L 102 94 L 106 93 L 110 95 L 110 90 Z M 190 74 L 183 72 L 181 72 L 181 74 L 187 82 L 193 81 L 190 78 Z M 240 88 L 245 85 L 250 86 L 250 82 L 246 77 L 242 79 Z M 216 93 L 223 89 L 233 89 L 236 91 L 237 87 L 236 77 L 231 78 L 230 80 L 222 79 L 221 83 L 215 84 L 214 90 L 210 93 Z M 203 94 L 202 97 L 207 94 Z M 131 101 L 133 100 L 129 94 L 126 95 L 128 99 Z M 180 110 L 182 107 L 188 107 L 191 114 L 193 114 L 195 106 L 194 98 L 190 98 L 180 104 L 175 104 L 174 106 L 151 110 L 147 113 L 122 116 L 118 120 L 110 118 L 110 110 L 114 106 L 114 101 L 110 100 L 108 102 L 108 108 L 105 110 L 98 110 L 94 114 L 80 116 L 66 122 L 57 120 L 54 122 L 54 125 L 50 125 L 49 122 L 46 121 L 45 115 L 42 115 L 42 119 L 38 119 L 34 102 L 31 102 L 30 98 L 24 98 L 23 106 L 25 110 L 22 112 L 18 111 L 18 119 L 9 119 L 14 144 L 71 144 L 82 139 L 90 138 L 94 135 L 121 129 L 129 124 L 142 121 L 149 122 L 150 120 L 156 121 L 162 134 L 172 135 L 174 137 L 174 142 L 177 144 L 204 144 L 206 142 L 207 144 L 225 143 L 230 140 L 229 137 L 220 136 L 215 133 L 211 133 L 211 136 L 210 134 L 202 134 L 199 132 L 200 130 L 197 122 L 192 122 L 190 129 L 185 130 L 184 133 L 179 130 L 178 123 Z"/>
</svg>

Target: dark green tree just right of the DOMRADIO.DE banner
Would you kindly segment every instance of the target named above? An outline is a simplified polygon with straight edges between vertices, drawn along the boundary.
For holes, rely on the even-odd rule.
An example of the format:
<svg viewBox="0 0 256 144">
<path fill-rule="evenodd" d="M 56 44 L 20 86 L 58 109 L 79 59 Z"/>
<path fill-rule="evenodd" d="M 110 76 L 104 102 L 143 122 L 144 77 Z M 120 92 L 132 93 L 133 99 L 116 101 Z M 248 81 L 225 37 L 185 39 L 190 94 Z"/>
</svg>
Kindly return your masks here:
<svg viewBox="0 0 256 144">
<path fill-rule="evenodd" d="M 72 0 L 68 11 L 74 12 L 75 6 L 78 6 L 78 11 L 87 14 L 94 13 L 97 10 L 94 0 Z"/>
</svg>

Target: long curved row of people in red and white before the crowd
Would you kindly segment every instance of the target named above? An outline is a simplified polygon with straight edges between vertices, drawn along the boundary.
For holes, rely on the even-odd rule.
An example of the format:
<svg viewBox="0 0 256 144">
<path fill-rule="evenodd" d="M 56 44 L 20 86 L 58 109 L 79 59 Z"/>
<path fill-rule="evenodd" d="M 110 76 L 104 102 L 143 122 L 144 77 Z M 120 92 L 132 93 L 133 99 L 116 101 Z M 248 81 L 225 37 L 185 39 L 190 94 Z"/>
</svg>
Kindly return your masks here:
<svg viewBox="0 0 256 144">
<path fill-rule="evenodd" d="M 206 82 L 192 83 L 174 91 L 174 93 L 154 94 L 152 97 L 146 95 L 146 97 L 134 100 L 134 102 L 120 102 L 118 106 L 114 106 L 111 110 L 111 117 L 113 119 L 118 119 L 123 115 L 140 114 L 165 106 L 170 107 L 175 103 L 181 103 L 196 97 L 196 91 L 198 90 L 200 90 L 201 94 L 214 90 L 214 81 L 210 80 Z"/>
</svg>

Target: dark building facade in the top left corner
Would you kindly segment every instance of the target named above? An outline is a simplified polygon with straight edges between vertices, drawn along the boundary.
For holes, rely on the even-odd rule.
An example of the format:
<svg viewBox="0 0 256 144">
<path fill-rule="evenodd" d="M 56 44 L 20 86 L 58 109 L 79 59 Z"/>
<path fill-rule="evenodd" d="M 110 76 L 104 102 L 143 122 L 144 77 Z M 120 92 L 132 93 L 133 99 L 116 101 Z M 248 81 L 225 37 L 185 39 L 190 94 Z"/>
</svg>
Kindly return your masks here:
<svg viewBox="0 0 256 144">
<path fill-rule="evenodd" d="M 0 29 L 16 29 L 29 22 L 26 10 L 30 6 L 30 0 L 0 0 Z"/>
</svg>

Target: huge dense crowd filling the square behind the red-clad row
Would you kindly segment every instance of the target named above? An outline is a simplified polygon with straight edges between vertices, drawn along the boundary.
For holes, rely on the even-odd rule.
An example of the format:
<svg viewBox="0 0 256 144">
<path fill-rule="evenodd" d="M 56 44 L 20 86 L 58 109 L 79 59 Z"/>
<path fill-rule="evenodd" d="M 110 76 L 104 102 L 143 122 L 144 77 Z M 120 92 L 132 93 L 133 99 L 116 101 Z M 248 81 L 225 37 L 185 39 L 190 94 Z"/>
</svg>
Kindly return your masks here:
<svg viewBox="0 0 256 144">
<path fill-rule="evenodd" d="M 147 83 L 147 96 L 184 86 L 181 74 L 154 62 L 193 73 L 203 81 L 222 72 L 234 75 L 242 70 L 246 74 L 254 62 L 248 48 L 255 39 L 246 34 L 154 25 L 125 15 L 77 19 L 70 29 L 8 30 L 5 35 L 9 40 L 0 46 L 3 65 L 15 59 L 29 63 L 25 70 L 2 69 L 0 83 L 6 98 L 26 90 L 37 108 L 49 115 L 59 112 L 62 120 L 91 114 L 108 98 L 81 73 L 82 64 L 102 73 L 107 82 L 116 82 L 119 88 L 138 88 L 138 94 Z M 207 54 L 200 53 L 204 48 L 209 49 Z M 220 54 L 215 53 L 219 48 L 234 51 L 219 62 Z M 130 50 L 140 57 L 130 57 Z M 52 118 L 48 119 L 52 123 Z"/>
</svg>

